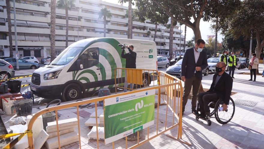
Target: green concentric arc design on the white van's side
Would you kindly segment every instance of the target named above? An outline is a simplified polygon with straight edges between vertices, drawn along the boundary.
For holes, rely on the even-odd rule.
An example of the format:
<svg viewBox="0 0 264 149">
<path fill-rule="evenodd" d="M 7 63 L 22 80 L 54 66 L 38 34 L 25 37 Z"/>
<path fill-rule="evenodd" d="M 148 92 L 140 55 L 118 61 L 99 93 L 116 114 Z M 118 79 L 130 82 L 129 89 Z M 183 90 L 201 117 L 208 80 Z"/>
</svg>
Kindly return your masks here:
<svg viewBox="0 0 264 149">
<path fill-rule="evenodd" d="M 119 54 L 118 59 L 121 60 L 122 67 L 123 68 L 125 67 L 125 59 L 121 57 L 122 50 L 120 49 L 120 47 L 118 47 L 118 44 L 120 44 L 120 43 L 116 39 L 104 38 L 104 39 L 97 39 L 95 41 L 92 41 L 85 48 L 83 48 L 83 50 L 80 52 L 79 56 L 84 52 L 84 50 L 86 48 L 88 48 L 90 45 L 92 45 L 92 44 L 94 44 L 96 42 L 106 42 L 106 43 L 110 44 L 113 48 L 115 48 L 116 51 Z M 115 79 L 116 78 L 115 71 L 116 71 L 116 68 L 117 68 L 117 64 L 116 64 L 116 61 L 115 61 L 113 55 L 109 51 L 107 51 L 106 49 L 103 49 L 103 48 L 99 48 L 99 55 L 104 57 L 107 60 L 107 62 L 110 64 L 110 67 L 111 67 L 111 79 Z M 101 68 L 100 69 L 100 73 L 101 73 L 101 76 L 102 76 L 102 80 L 106 80 L 106 73 L 107 72 L 106 72 L 105 66 L 102 64 L 102 59 L 99 58 L 99 63 L 96 64 L 95 67 Z M 124 76 L 124 73 L 125 73 L 125 70 L 122 70 L 122 75 L 123 76 Z M 91 80 L 88 79 L 87 75 L 85 75 L 85 74 L 91 74 L 94 77 L 95 82 L 98 81 L 98 76 L 95 73 L 95 71 L 91 70 L 89 68 L 85 69 L 85 70 L 73 71 L 72 77 L 73 77 L 74 80 L 78 80 L 78 81 L 84 80 L 87 83 L 91 82 Z M 109 85 L 108 88 L 112 88 L 113 86 L 114 85 Z M 100 88 L 103 88 L 103 87 L 104 86 L 101 86 Z M 93 88 L 93 91 L 95 91 L 95 90 L 96 90 L 96 88 Z M 89 90 L 87 90 L 87 91 L 89 91 Z"/>
</svg>

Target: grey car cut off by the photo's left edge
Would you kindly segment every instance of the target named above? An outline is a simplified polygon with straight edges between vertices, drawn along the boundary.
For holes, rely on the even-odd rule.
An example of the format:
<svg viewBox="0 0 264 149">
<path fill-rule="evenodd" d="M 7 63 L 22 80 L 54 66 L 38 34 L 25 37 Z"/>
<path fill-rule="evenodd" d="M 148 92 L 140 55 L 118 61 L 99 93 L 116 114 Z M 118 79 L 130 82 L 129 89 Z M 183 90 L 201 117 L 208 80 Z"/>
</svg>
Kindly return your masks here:
<svg viewBox="0 0 264 149">
<path fill-rule="evenodd" d="M 5 76 L 5 74 L 7 74 Z M 15 76 L 15 70 L 13 66 L 7 61 L 0 60 L 0 80 L 9 79 Z"/>
</svg>

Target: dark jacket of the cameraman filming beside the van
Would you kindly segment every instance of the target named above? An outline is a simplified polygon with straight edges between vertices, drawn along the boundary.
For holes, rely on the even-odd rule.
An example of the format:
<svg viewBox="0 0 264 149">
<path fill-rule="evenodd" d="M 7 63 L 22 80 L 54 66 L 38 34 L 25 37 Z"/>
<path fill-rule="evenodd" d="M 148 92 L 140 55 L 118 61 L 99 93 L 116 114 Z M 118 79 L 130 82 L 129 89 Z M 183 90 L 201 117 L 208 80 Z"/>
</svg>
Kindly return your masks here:
<svg viewBox="0 0 264 149">
<path fill-rule="evenodd" d="M 124 54 L 122 50 L 121 57 L 126 59 L 126 68 L 136 68 L 137 53 L 128 48 L 129 53 Z"/>
</svg>

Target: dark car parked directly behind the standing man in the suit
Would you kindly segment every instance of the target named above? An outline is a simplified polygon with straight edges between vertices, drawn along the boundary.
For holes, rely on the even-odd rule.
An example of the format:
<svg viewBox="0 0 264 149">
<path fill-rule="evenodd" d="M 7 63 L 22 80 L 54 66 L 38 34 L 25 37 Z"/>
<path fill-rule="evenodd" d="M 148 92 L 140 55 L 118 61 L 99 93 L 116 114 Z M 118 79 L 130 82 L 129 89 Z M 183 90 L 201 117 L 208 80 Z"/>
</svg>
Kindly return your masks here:
<svg viewBox="0 0 264 149">
<path fill-rule="evenodd" d="M 174 65 L 170 66 L 169 68 L 167 68 L 166 73 L 168 73 L 168 74 L 170 74 L 172 76 L 176 76 L 177 78 L 180 78 L 181 77 L 181 73 L 182 73 L 182 60 L 183 59 L 177 61 L 176 64 L 174 64 Z M 207 65 L 207 67 L 204 70 L 202 70 L 202 74 L 204 76 L 209 75 L 208 65 Z"/>
</svg>

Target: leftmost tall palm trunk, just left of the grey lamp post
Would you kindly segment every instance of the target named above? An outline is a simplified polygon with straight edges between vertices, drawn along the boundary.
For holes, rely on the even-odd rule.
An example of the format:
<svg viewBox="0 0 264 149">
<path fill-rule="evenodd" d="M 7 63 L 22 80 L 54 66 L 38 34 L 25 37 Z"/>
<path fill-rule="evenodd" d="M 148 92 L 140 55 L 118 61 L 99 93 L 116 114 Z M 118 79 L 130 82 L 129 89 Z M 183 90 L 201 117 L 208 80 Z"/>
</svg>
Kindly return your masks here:
<svg viewBox="0 0 264 149">
<path fill-rule="evenodd" d="M 12 44 L 12 24 L 10 17 L 10 0 L 6 0 L 7 22 L 8 22 L 8 37 L 9 37 L 9 57 L 13 57 L 13 44 Z"/>
</svg>

